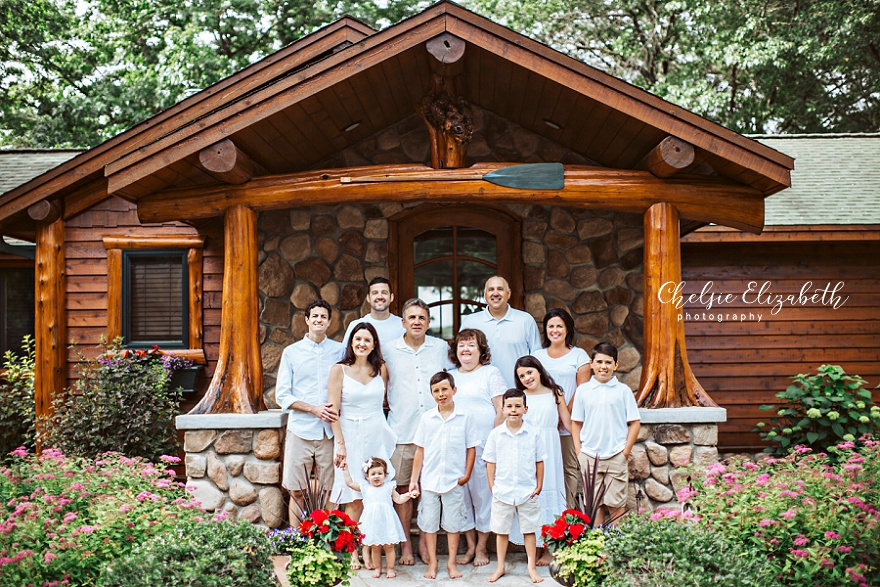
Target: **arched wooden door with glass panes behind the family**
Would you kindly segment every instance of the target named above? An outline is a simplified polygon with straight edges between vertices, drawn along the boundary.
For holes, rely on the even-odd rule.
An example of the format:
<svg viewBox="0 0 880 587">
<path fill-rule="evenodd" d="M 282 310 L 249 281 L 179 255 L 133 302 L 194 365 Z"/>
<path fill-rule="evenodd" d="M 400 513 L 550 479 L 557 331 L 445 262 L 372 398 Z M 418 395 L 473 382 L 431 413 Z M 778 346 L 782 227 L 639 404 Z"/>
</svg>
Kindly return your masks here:
<svg viewBox="0 0 880 587">
<path fill-rule="evenodd" d="M 479 311 L 493 275 L 510 282 L 511 303 L 522 307 L 522 228 L 505 210 L 425 205 L 391 219 L 396 307 L 420 297 L 431 308 L 429 334 L 450 339 L 461 317 Z"/>
</svg>

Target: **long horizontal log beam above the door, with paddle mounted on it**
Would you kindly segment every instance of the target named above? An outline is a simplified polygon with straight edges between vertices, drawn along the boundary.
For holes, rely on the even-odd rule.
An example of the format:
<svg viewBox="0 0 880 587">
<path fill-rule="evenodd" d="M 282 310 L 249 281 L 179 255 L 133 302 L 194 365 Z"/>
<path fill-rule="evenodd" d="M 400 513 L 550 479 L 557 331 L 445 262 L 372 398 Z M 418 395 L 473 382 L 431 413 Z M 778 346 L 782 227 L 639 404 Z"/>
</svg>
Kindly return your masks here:
<svg viewBox="0 0 880 587">
<path fill-rule="evenodd" d="M 488 173 L 502 167 L 485 164 L 469 169 Z M 289 208 L 292 201 L 309 205 L 373 202 L 472 202 L 475 195 L 495 204 L 572 206 L 643 214 L 657 202 L 674 204 L 682 217 L 759 233 L 764 226 L 760 192 L 740 184 L 706 177 L 661 180 L 646 171 L 568 166 L 561 190 L 521 190 L 487 181 L 405 181 L 399 183 L 341 183 L 344 176 L 436 174 L 424 165 L 375 165 L 289 175 L 258 177 L 245 185 L 215 185 L 157 192 L 138 202 L 141 222 L 199 220 L 222 216 L 234 205 L 254 210 Z"/>
</svg>

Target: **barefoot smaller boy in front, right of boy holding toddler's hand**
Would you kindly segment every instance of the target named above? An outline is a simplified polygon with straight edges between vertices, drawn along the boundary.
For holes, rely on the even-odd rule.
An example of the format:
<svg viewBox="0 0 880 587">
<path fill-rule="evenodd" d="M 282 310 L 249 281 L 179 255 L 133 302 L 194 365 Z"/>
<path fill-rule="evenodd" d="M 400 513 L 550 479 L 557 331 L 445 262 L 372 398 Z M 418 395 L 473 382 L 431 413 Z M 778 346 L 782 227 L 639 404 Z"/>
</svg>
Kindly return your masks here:
<svg viewBox="0 0 880 587">
<path fill-rule="evenodd" d="M 528 411 L 526 394 L 519 389 L 508 389 L 501 405 L 505 420 L 489 433 L 483 449 L 492 491 L 490 528 L 495 532 L 495 550 L 498 551 L 498 566 L 488 581 L 494 583 L 506 572 L 507 544 L 516 513 L 529 560 L 529 577 L 532 583 L 540 583 L 544 579 L 538 574 L 537 566 L 536 534 L 541 529 L 538 495 L 547 454 L 540 432 L 523 422 L 523 415 Z"/>
</svg>

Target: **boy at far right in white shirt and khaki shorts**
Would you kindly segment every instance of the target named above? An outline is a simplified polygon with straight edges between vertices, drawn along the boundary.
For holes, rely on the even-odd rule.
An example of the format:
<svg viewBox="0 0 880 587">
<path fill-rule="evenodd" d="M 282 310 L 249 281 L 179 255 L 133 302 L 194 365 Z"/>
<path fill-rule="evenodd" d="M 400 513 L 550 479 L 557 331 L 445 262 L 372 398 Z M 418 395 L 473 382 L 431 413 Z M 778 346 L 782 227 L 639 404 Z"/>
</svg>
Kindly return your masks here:
<svg viewBox="0 0 880 587">
<path fill-rule="evenodd" d="M 600 342 L 590 353 L 593 378 L 578 386 L 571 408 L 571 436 L 581 470 L 593 468 L 599 457 L 596 490 L 605 485 L 596 521 L 610 521 L 626 511 L 629 459 L 641 426 L 636 399 L 629 386 L 617 380 L 617 347 Z"/>
</svg>

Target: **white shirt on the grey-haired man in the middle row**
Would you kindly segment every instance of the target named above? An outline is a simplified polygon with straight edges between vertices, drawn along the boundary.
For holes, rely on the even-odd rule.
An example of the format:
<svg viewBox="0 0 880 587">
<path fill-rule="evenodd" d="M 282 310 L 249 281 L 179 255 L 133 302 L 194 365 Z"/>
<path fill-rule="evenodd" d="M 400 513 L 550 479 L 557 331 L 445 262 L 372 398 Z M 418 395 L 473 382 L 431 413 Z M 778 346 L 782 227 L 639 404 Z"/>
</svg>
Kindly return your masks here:
<svg viewBox="0 0 880 587">
<path fill-rule="evenodd" d="M 401 336 L 382 352 L 388 364 L 388 425 L 397 434 L 397 444 L 411 444 L 419 418 L 437 406 L 431 397 L 431 377 L 452 366 L 449 345 L 426 336 L 425 342 L 413 349 Z"/>
</svg>

